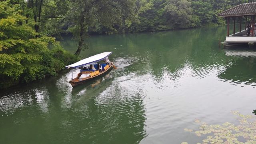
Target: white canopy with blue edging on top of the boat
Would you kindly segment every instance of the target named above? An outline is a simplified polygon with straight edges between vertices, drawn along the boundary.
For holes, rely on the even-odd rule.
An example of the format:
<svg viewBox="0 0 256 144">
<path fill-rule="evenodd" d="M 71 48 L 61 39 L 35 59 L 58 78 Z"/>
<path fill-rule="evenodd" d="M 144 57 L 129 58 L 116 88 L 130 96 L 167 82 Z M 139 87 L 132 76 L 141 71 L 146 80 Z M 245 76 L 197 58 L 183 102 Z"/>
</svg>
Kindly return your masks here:
<svg viewBox="0 0 256 144">
<path fill-rule="evenodd" d="M 80 60 L 74 64 L 70 64 L 69 66 L 65 66 L 65 68 L 79 68 L 80 66 L 85 66 L 88 64 L 93 64 L 94 62 L 99 62 L 101 60 L 106 59 L 108 62 L 108 56 L 112 54 L 112 52 L 103 52 L 101 54 L 96 54 L 94 56 L 91 56 L 89 58 L 85 58 L 83 60 Z"/>
</svg>

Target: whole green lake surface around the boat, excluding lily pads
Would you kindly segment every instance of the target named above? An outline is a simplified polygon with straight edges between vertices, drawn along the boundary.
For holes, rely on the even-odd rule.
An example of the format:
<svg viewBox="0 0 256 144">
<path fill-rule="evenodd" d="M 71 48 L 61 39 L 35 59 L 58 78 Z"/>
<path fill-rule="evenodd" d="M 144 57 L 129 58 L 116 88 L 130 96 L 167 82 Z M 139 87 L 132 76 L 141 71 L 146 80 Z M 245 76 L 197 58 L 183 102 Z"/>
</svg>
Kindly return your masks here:
<svg viewBox="0 0 256 144">
<path fill-rule="evenodd" d="M 225 27 L 92 36 L 82 57 L 118 67 L 75 88 L 72 71 L 0 92 L 1 144 L 180 144 L 184 132 L 256 109 L 256 51 L 220 50 Z M 76 51 L 76 41 L 62 46 Z M 74 75 L 78 70 L 74 71 Z"/>
</svg>

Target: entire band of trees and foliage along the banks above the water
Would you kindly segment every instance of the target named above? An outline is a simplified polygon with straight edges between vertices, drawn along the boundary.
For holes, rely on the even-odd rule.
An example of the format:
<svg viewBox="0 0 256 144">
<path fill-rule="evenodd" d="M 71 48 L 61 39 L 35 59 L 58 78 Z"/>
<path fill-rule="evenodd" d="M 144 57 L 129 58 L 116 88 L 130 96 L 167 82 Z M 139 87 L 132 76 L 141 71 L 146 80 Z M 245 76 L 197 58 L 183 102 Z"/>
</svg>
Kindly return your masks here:
<svg viewBox="0 0 256 144">
<path fill-rule="evenodd" d="M 225 24 L 218 13 L 246 2 L 254 0 L 0 0 L 0 89 L 56 75 L 90 34 Z M 55 40 L 63 34 L 78 40 L 75 55 Z"/>
</svg>

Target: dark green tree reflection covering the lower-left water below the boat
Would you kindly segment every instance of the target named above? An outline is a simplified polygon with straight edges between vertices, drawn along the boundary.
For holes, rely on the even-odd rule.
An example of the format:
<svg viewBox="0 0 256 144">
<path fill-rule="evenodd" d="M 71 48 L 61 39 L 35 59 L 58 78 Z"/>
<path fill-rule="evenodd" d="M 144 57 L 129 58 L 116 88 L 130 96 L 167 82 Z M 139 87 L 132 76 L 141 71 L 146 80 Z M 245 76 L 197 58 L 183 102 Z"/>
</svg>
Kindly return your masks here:
<svg viewBox="0 0 256 144">
<path fill-rule="evenodd" d="M 6 92 L 0 99 L 4 104 L 0 105 L 1 128 L 5 130 L 1 135 L 10 143 L 24 137 L 21 132 L 13 135 L 20 126 L 32 129 L 29 136 L 42 134 L 36 138 L 43 143 L 133 144 L 146 137 L 143 99 L 136 91 L 125 93 L 125 98 L 124 93 L 112 93 L 122 82 L 113 72 L 74 88 L 66 76 L 43 81 L 14 94 Z M 10 114 L 13 119 L 7 120 Z"/>
</svg>

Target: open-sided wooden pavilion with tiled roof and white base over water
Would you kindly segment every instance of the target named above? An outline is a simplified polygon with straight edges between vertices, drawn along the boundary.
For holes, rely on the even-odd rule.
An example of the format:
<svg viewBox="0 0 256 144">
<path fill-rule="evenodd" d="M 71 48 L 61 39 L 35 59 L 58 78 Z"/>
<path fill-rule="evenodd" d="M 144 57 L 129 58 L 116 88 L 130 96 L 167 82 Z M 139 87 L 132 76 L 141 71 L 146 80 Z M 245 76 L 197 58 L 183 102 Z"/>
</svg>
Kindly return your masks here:
<svg viewBox="0 0 256 144">
<path fill-rule="evenodd" d="M 255 16 L 256 16 L 256 2 L 240 4 L 235 6 L 234 8 L 230 8 L 220 14 L 220 17 L 224 17 L 227 20 L 227 36 L 224 44 L 225 46 L 232 46 L 238 44 L 249 44 L 254 45 L 256 43 L 256 36 L 254 24 L 255 24 Z M 242 28 L 242 18 L 245 18 L 245 26 Z M 250 22 L 248 19 L 250 18 Z M 233 25 L 233 33 L 230 34 L 230 21 L 234 21 Z M 239 32 L 236 32 L 236 20 L 239 21 Z M 248 22 L 248 23 L 247 23 Z M 249 36 L 247 36 L 247 26 L 251 28 L 249 32 Z"/>
</svg>

